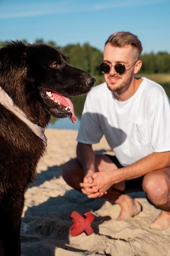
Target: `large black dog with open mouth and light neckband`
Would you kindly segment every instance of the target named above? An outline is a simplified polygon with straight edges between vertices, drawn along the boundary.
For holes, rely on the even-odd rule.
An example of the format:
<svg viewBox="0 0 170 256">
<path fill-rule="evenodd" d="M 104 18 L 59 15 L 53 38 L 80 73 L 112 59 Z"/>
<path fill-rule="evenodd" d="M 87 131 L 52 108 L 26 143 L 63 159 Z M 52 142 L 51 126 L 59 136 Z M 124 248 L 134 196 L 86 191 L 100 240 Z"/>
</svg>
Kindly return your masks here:
<svg viewBox="0 0 170 256">
<path fill-rule="evenodd" d="M 32 125 L 42 132 L 51 115 L 75 122 L 67 95 L 85 94 L 94 83 L 54 47 L 11 42 L 0 49 L 0 92 L 11 106 L 0 99 L 0 256 L 21 253 L 24 191 L 46 148 Z"/>
</svg>

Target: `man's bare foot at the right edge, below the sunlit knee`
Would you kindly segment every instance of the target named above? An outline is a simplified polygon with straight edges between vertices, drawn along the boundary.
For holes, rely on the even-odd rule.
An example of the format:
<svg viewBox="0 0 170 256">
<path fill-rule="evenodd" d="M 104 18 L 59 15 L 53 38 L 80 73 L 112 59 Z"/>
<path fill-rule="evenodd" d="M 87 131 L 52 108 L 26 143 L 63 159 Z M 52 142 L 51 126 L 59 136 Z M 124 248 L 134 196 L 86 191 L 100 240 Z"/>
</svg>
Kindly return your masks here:
<svg viewBox="0 0 170 256">
<path fill-rule="evenodd" d="M 170 227 L 170 212 L 161 211 L 159 216 L 150 224 L 151 229 L 166 229 Z"/>
</svg>

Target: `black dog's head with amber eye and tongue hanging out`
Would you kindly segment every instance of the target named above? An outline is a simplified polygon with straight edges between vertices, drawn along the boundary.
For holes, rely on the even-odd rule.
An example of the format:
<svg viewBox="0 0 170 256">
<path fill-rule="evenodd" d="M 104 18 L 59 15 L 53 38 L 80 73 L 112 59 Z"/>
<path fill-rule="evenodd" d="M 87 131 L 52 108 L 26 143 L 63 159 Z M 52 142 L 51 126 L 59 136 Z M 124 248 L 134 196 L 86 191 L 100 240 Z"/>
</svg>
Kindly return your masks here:
<svg viewBox="0 0 170 256">
<path fill-rule="evenodd" d="M 69 65 L 55 47 L 17 41 L 0 49 L 0 86 L 41 126 L 48 123 L 50 115 L 70 117 L 74 123 L 68 96 L 86 94 L 94 83 L 91 75 Z"/>
</svg>

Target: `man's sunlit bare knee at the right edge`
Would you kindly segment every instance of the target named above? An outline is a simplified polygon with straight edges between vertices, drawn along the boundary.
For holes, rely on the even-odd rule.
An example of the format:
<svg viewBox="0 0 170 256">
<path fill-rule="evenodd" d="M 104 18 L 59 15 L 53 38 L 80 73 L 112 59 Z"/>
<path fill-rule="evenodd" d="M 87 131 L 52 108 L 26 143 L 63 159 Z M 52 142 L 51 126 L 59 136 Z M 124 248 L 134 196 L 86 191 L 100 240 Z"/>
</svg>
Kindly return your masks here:
<svg viewBox="0 0 170 256">
<path fill-rule="evenodd" d="M 147 173 L 143 180 L 143 189 L 150 201 L 161 206 L 167 203 L 170 195 L 169 178 L 161 171 Z"/>
</svg>

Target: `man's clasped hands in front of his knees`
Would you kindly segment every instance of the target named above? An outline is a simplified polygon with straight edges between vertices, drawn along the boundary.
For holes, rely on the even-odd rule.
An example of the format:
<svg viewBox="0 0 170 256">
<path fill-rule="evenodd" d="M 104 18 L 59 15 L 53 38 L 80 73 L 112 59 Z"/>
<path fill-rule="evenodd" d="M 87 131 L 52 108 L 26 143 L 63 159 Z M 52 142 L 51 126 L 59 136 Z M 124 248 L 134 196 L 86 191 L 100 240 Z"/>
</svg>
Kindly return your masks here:
<svg viewBox="0 0 170 256">
<path fill-rule="evenodd" d="M 82 193 L 88 198 L 100 198 L 107 194 L 107 190 L 113 185 L 113 171 L 93 172 L 88 170 L 83 182 L 79 183 Z"/>
</svg>

